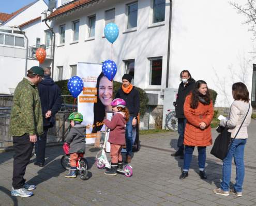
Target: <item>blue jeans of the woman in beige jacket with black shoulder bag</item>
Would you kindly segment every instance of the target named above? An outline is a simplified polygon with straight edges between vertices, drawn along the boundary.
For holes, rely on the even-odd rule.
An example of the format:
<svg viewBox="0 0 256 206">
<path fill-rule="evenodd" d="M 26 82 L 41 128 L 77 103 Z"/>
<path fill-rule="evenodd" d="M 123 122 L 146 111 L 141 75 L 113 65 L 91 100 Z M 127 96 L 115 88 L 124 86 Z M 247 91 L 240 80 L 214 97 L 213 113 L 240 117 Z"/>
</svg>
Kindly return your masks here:
<svg viewBox="0 0 256 206">
<path fill-rule="evenodd" d="M 242 192 L 245 177 L 244 151 L 247 139 L 235 139 L 231 145 L 227 157 L 223 160 L 222 166 L 222 182 L 220 188 L 222 191 L 229 191 L 229 183 L 231 179 L 231 164 L 234 156 L 236 167 L 235 191 Z"/>
</svg>

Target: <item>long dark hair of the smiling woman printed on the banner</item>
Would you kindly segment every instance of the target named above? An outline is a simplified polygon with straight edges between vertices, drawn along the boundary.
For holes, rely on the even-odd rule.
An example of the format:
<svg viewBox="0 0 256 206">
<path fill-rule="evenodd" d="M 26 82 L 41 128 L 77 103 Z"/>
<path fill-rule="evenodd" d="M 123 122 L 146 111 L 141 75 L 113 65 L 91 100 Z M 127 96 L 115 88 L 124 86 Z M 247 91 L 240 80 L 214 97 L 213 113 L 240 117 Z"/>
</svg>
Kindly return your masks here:
<svg viewBox="0 0 256 206">
<path fill-rule="evenodd" d="M 106 117 L 106 111 L 105 111 L 105 106 L 102 104 L 100 98 L 99 98 L 99 82 L 100 79 L 104 77 L 104 74 L 101 72 L 100 75 L 97 78 L 97 84 L 96 84 L 96 88 L 97 88 L 97 103 L 94 103 L 94 107 L 93 107 L 93 112 L 94 112 L 94 121 L 93 121 L 93 131 L 92 133 L 96 133 L 97 131 L 100 131 L 101 128 L 103 127 L 102 125 L 97 126 L 97 122 L 98 123 L 102 123 L 104 117 Z"/>
</svg>

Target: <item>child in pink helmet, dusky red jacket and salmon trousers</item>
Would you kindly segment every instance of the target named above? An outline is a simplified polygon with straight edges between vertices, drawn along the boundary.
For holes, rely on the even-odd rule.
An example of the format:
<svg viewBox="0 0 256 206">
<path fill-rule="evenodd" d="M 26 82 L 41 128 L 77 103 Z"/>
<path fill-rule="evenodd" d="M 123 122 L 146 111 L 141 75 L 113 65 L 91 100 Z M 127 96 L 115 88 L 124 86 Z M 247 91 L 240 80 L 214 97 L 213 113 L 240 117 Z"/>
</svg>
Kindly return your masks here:
<svg viewBox="0 0 256 206">
<path fill-rule="evenodd" d="M 114 113 L 111 122 L 104 119 L 104 124 L 110 129 L 108 142 L 111 146 L 110 156 L 112 158 L 111 169 L 106 171 L 106 175 L 116 175 L 117 168 L 123 168 L 121 149 L 125 145 L 125 127 L 130 116 L 124 99 L 114 99 L 111 106 Z"/>
</svg>

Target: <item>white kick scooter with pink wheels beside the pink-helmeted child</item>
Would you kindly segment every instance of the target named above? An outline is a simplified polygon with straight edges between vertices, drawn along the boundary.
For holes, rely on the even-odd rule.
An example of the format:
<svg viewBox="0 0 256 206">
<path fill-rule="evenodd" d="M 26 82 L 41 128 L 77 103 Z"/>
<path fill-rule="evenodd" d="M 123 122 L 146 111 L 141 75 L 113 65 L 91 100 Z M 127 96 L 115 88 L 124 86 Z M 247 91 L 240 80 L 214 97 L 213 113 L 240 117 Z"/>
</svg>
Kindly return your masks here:
<svg viewBox="0 0 256 206">
<path fill-rule="evenodd" d="M 106 152 L 105 152 L 105 148 L 106 148 L 106 143 L 107 143 L 107 135 L 105 136 L 105 141 L 104 141 L 104 145 L 103 145 L 103 149 L 100 150 L 98 153 L 100 153 L 101 151 L 101 156 L 100 158 L 97 158 L 96 161 L 96 165 L 98 168 L 111 168 L 111 162 L 108 161 L 108 158 L 106 156 Z M 125 174 L 126 177 L 130 177 L 132 175 L 132 167 L 129 164 L 126 164 L 123 166 L 123 168 L 118 168 L 117 171 L 119 173 Z"/>
</svg>

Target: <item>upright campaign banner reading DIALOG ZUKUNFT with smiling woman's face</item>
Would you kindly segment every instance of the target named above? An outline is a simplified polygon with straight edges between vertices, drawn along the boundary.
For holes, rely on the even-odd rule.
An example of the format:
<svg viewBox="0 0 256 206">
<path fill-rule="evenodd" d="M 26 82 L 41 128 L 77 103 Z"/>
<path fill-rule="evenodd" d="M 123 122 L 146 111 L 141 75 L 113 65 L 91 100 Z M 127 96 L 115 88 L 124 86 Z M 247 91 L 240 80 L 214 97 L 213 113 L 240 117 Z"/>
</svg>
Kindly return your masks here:
<svg viewBox="0 0 256 206">
<path fill-rule="evenodd" d="M 102 64 L 78 62 L 77 76 L 84 82 L 78 96 L 78 112 L 83 115 L 82 124 L 87 126 L 86 144 L 94 145 L 97 131 L 105 131 L 103 119 L 112 112 L 112 81 L 101 72 Z"/>
</svg>

